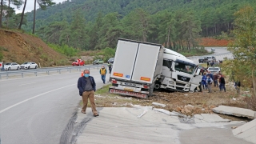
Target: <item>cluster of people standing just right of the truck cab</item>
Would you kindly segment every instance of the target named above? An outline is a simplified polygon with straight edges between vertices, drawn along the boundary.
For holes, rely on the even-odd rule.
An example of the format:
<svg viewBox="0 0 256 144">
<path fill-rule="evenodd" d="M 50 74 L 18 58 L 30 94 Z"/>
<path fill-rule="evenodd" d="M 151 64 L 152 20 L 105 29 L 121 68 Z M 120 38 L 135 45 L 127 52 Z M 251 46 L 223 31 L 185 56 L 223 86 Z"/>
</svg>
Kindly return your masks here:
<svg viewBox="0 0 256 144">
<path fill-rule="evenodd" d="M 210 71 L 208 71 L 208 73 L 204 72 L 204 74 L 202 75 L 201 84 L 202 84 L 202 89 L 208 90 L 209 93 L 212 92 L 211 87 L 213 85 L 219 87 L 219 91 L 224 90 L 226 92 L 225 78 L 223 77 L 220 71 L 215 74 L 211 74 Z"/>
</svg>

